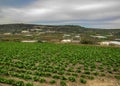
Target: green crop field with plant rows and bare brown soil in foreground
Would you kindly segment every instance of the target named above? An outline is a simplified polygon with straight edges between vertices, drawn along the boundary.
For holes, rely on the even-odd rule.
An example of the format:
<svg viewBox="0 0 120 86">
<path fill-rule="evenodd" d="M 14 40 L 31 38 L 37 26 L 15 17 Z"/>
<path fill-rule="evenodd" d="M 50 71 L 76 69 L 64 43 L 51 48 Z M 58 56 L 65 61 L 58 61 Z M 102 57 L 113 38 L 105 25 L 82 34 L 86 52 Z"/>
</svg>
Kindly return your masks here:
<svg viewBox="0 0 120 86">
<path fill-rule="evenodd" d="M 120 86 L 120 48 L 0 42 L 0 86 Z"/>
</svg>

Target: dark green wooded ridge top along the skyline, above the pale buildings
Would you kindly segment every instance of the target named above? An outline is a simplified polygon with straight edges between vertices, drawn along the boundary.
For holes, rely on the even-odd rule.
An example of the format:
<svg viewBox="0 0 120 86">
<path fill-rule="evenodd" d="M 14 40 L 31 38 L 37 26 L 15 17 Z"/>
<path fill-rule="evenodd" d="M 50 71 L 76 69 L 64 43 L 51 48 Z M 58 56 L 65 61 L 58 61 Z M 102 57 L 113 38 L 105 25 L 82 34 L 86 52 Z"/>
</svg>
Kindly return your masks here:
<svg viewBox="0 0 120 86">
<path fill-rule="evenodd" d="M 0 25 L 0 33 L 19 33 L 22 30 L 42 29 L 43 31 L 72 32 L 85 34 L 114 34 L 120 36 L 120 29 L 92 29 L 75 25 L 35 25 L 35 24 L 3 24 Z"/>
</svg>

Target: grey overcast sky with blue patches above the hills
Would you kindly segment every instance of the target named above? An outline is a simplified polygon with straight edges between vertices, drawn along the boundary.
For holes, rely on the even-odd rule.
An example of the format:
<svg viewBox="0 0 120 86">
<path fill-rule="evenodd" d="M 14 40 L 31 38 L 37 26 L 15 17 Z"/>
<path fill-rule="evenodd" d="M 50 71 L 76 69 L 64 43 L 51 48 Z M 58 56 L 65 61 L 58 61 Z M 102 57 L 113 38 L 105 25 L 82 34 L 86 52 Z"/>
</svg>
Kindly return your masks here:
<svg viewBox="0 0 120 86">
<path fill-rule="evenodd" d="M 0 0 L 0 24 L 8 23 L 120 29 L 120 0 Z"/>
</svg>

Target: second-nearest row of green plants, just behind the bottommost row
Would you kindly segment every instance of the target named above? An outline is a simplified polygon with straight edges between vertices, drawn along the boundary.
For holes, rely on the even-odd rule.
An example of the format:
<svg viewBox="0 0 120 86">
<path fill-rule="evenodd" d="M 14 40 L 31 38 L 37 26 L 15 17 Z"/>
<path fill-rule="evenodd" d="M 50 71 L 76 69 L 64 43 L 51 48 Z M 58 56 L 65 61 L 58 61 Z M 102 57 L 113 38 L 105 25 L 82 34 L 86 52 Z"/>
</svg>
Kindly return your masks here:
<svg viewBox="0 0 120 86">
<path fill-rule="evenodd" d="M 46 75 L 45 75 L 46 74 Z M 39 81 L 39 79 L 41 79 L 41 77 L 52 77 L 53 79 L 60 79 L 60 80 L 69 80 L 71 82 L 75 82 L 77 79 L 76 74 L 73 74 L 73 76 L 60 76 L 60 75 L 50 75 L 47 73 L 41 73 L 40 75 L 35 75 L 35 76 L 31 76 L 29 74 L 24 74 L 24 73 L 16 73 L 16 72 L 8 72 L 5 70 L 0 70 L 0 75 L 5 75 L 5 76 L 12 76 L 12 77 L 17 77 L 17 78 L 21 78 L 21 79 L 25 79 L 25 80 L 33 80 L 33 81 Z M 81 75 L 82 78 L 88 78 L 88 79 L 94 79 L 93 76 L 89 76 L 89 75 Z"/>
</svg>

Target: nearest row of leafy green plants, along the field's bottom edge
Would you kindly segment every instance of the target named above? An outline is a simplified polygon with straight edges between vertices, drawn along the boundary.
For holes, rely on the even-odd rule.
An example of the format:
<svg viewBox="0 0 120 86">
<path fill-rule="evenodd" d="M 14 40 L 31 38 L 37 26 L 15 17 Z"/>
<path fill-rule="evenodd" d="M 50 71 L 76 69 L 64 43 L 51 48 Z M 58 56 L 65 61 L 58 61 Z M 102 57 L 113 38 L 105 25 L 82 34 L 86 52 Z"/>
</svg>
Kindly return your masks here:
<svg viewBox="0 0 120 86">
<path fill-rule="evenodd" d="M 70 81 L 75 82 L 76 80 L 72 77 L 69 78 Z M 37 78 L 34 79 L 34 81 L 37 81 Z M 49 83 L 49 84 L 55 84 L 56 80 L 50 80 L 49 82 L 46 81 L 45 78 L 41 78 L 39 79 L 40 83 Z M 86 84 L 86 80 L 83 78 L 80 78 L 80 82 L 83 84 Z M 6 78 L 2 78 L 0 77 L 0 83 L 4 83 L 4 84 L 9 84 L 12 86 L 33 86 L 32 83 L 28 82 L 28 83 L 24 83 L 23 81 L 16 81 L 14 79 L 6 79 Z M 34 85 L 35 86 L 35 85 Z M 60 81 L 60 86 L 67 86 L 66 82 L 64 80 Z"/>
</svg>

